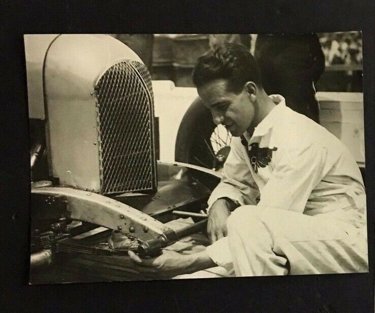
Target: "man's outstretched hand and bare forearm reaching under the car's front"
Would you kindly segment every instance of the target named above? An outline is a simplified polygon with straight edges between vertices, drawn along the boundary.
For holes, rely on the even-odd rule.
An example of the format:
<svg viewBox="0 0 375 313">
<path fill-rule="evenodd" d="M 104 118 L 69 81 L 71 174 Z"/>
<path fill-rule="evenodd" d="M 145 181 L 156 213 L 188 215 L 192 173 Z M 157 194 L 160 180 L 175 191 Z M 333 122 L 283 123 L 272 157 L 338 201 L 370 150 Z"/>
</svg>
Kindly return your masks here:
<svg viewBox="0 0 375 313">
<path fill-rule="evenodd" d="M 206 251 L 182 255 L 175 251 L 163 250 L 163 254 L 151 259 L 141 259 L 132 251 L 129 251 L 128 254 L 136 270 L 142 273 L 157 274 L 164 278 L 216 266 Z"/>
</svg>

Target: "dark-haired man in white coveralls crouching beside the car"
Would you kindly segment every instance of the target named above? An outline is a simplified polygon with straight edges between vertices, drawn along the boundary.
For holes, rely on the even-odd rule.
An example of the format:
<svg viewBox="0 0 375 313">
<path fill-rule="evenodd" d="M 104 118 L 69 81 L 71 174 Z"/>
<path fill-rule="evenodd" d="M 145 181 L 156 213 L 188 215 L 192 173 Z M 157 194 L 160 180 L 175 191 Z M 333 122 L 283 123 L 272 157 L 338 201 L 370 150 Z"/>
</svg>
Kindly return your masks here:
<svg viewBox="0 0 375 313">
<path fill-rule="evenodd" d="M 191 255 L 129 252 L 135 265 L 166 277 L 216 265 L 236 276 L 367 272 L 366 195 L 348 149 L 283 96 L 267 95 L 242 45 L 209 50 L 193 81 L 233 135 L 208 200 L 212 243 Z"/>
</svg>

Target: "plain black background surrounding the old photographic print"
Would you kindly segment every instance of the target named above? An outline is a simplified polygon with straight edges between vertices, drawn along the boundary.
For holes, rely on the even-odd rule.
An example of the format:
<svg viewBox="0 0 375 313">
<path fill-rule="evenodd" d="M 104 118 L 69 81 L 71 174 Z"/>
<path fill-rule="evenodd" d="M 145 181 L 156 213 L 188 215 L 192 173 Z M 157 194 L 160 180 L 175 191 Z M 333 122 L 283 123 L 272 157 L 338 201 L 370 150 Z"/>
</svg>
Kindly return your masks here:
<svg viewBox="0 0 375 313">
<path fill-rule="evenodd" d="M 297 5 L 298 3 L 298 5 Z M 2 289 L 9 312 L 373 312 L 373 1 L 2 1 L 0 132 Z M 29 150 L 24 33 L 363 31 L 370 273 L 28 285 Z M 4 120 L 4 122 L 3 122 Z"/>
</svg>

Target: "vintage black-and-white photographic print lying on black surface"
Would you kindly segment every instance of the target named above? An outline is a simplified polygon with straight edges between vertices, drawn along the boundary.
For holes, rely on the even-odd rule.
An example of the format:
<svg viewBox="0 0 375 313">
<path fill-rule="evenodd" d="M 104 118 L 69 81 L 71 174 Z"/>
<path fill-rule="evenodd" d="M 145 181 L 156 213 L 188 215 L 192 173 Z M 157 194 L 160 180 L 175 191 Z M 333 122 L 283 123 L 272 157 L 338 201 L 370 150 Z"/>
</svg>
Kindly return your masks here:
<svg viewBox="0 0 375 313">
<path fill-rule="evenodd" d="M 24 49 L 30 284 L 368 272 L 360 31 Z"/>
</svg>

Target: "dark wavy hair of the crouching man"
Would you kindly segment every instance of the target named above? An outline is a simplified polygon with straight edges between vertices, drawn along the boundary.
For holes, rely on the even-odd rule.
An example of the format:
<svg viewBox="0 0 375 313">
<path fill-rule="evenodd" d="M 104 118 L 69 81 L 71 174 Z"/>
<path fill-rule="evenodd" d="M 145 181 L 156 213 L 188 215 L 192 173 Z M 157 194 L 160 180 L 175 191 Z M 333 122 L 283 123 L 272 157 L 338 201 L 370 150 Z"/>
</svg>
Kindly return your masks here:
<svg viewBox="0 0 375 313">
<path fill-rule="evenodd" d="M 193 83 L 199 88 L 216 80 L 228 80 L 228 91 L 240 93 L 246 82 L 261 86 L 259 67 L 249 50 L 238 44 L 214 46 L 198 58 L 193 71 Z"/>
</svg>

